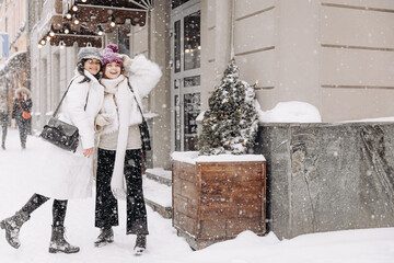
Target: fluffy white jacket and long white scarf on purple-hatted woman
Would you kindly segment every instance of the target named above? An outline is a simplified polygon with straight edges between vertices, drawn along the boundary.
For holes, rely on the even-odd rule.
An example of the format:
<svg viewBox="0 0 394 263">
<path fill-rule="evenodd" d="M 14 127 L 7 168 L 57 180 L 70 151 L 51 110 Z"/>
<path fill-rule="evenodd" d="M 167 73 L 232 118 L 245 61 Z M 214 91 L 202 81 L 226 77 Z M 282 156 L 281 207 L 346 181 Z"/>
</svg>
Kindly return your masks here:
<svg viewBox="0 0 394 263">
<path fill-rule="evenodd" d="M 143 55 L 136 56 L 131 66 L 126 68 L 126 71 L 128 78 L 120 76 L 117 79 L 101 80 L 101 83 L 107 92 L 101 112 L 113 116 L 113 122 L 104 128 L 102 136 L 119 130 L 112 179 L 112 188 L 113 191 L 115 190 L 114 192 L 119 190 L 123 192 L 124 163 L 129 126 L 142 122 L 142 115 L 138 108 L 138 104 L 142 110 L 141 99 L 149 94 L 162 76 L 159 66 L 148 60 Z M 134 92 L 130 91 L 127 80 Z M 116 104 L 114 102 L 114 95 Z"/>
</svg>

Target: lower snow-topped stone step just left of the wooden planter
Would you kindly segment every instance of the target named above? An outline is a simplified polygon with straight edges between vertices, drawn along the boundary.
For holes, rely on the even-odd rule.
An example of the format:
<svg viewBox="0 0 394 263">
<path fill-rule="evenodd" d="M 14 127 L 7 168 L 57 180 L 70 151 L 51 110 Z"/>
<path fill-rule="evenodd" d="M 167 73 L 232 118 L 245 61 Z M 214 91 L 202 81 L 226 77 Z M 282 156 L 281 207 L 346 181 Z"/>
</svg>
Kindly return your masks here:
<svg viewBox="0 0 394 263">
<path fill-rule="evenodd" d="M 164 218 L 172 218 L 172 187 L 143 176 L 143 196 L 147 205 Z"/>
</svg>

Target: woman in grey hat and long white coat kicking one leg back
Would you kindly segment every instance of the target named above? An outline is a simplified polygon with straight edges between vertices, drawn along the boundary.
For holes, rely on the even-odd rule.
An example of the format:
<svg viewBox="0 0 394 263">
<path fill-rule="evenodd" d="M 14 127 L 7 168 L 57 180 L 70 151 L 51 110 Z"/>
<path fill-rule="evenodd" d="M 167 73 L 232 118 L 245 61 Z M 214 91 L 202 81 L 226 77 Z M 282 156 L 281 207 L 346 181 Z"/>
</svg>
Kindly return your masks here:
<svg viewBox="0 0 394 263">
<path fill-rule="evenodd" d="M 38 165 L 40 169 L 33 173 L 37 174 L 35 194 L 14 216 L 0 221 L 0 227 L 5 230 L 7 241 L 15 249 L 21 245 L 19 235 L 23 224 L 51 197 L 54 205 L 49 252 L 77 253 L 80 250 L 65 239 L 65 217 L 68 199 L 86 198 L 92 194 L 94 119 L 103 104 L 104 88 L 99 82 L 102 68 L 99 49 L 81 48 L 78 61 L 59 118 L 78 127 L 80 144 L 74 153 L 44 144 Z M 48 164 L 56 168 L 56 171 L 48 169 Z"/>
</svg>

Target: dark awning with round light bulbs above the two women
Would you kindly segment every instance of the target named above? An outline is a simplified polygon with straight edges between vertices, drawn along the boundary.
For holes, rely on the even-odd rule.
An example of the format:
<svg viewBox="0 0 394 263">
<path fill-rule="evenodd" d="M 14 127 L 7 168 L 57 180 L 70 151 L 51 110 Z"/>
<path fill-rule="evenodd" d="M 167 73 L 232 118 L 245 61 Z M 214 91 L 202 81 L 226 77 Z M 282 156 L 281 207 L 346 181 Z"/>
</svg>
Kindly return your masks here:
<svg viewBox="0 0 394 263">
<path fill-rule="evenodd" d="M 118 26 L 129 33 L 131 25 L 143 26 L 151 0 L 56 0 L 45 1 L 44 9 L 53 13 L 43 22 L 38 44 L 102 47 L 102 33 Z"/>
</svg>

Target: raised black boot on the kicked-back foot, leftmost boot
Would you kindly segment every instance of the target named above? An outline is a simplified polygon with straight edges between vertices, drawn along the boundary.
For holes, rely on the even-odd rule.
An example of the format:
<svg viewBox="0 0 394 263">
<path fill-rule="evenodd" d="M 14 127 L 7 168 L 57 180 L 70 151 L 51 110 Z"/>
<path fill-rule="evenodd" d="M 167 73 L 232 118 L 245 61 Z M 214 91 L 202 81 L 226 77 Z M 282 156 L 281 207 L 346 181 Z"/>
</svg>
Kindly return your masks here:
<svg viewBox="0 0 394 263">
<path fill-rule="evenodd" d="M 19 210 L 12 217 L 0 221 L 1 229 L 5 229 L 5 239 L 12 248 L 18 249 L 21 247 L 19 232 L 22 225 L 25 224 L 28 219 L 30 215 L 26 211 Z"/>
</svg>

